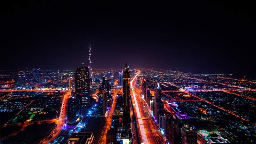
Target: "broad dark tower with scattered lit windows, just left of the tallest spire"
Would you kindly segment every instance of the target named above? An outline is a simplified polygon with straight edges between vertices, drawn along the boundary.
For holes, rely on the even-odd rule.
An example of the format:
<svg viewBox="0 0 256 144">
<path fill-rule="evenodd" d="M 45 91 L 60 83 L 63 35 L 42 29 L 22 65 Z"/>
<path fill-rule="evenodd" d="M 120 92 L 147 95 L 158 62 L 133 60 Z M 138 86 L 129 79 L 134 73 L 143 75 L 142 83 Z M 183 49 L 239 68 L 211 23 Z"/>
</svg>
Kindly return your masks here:
<svg viewBox="0 0 256 144">
<path fill-rule="evenodd" d="M 87 67 L 78 67 L 76 70 L 75 93 L 82 93 L 82 106 L 90 106 L 90 79 Z"/>
</svg>

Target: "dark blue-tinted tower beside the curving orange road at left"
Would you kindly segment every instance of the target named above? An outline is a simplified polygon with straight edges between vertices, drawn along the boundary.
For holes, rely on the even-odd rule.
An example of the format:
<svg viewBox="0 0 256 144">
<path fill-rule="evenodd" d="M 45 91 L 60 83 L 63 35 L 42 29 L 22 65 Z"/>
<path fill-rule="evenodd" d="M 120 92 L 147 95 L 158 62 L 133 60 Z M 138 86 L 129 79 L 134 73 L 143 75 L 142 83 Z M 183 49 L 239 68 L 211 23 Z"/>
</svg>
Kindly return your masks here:
<svg viewBox="0 0 256 144">
<path fill-rule="evenodd" d="M 68 99 L 68 119 L 67 124 L 74 125 L 76 124 L 76 96 L 72 96 Z"/>
</svg>

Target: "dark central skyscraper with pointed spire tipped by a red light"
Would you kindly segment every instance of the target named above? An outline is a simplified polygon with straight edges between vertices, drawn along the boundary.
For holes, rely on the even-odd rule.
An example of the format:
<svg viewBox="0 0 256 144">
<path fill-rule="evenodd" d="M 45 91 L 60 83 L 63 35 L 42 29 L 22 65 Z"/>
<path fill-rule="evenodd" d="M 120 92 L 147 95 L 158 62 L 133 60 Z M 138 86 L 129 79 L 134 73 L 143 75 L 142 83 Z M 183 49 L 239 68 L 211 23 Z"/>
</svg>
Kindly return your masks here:
<svg viewBox="0 0 256 144">
<path fill-rule="evenodd" d="M 123 127 L 129 129 L 131 123 L 130 117 L 130 71 L 125 62 L 123 72 Z"/>
</svg>

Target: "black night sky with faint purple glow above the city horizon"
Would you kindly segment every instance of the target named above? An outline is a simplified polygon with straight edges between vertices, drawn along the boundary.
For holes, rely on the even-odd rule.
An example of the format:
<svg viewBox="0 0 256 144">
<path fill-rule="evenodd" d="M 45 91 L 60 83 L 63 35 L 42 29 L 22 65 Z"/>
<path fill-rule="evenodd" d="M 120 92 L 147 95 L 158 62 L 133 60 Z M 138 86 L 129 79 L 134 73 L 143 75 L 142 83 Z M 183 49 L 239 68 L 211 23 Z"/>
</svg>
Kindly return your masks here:
<svg viewBox="0 0 256 144">
<path fill-rule="evenodd" d="M 232 3 L 231 3 L 232 2 Z M 1 4 L 0 69 L 172 68 L 255 73 L 252 3 L 20 2 Z"/>
</svg>

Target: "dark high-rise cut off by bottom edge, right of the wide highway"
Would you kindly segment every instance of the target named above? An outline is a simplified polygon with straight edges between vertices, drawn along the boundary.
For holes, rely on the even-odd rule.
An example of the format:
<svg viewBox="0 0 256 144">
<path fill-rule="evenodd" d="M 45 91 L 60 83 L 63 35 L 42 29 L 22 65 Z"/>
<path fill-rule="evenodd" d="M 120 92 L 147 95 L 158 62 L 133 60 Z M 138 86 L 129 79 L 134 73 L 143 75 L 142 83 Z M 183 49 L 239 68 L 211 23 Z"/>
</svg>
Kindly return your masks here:
<svg viewBox="0 0 256 144">
<path fill-rule="evenodd" d="M 197 144 L 196 128 L 192 125 L 182 126 L 182 144 Z"/>
</svg>

